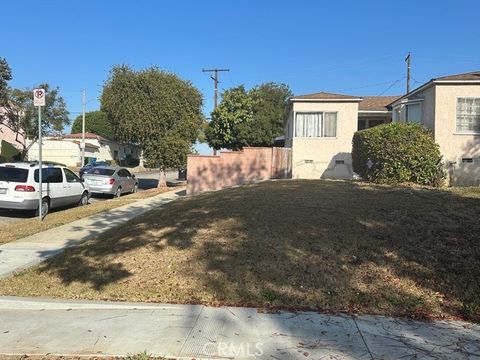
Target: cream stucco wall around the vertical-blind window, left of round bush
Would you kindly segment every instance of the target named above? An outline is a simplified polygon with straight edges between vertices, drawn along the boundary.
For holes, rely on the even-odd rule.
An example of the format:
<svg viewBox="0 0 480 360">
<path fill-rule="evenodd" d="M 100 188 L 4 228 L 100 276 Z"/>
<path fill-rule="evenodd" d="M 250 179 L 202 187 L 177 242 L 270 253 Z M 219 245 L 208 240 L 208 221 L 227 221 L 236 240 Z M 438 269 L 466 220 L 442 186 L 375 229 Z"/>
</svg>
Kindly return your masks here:
<svg viewBox="0 0 480 360">
<path fill-rule="evenodd" d="M 294 102 L 292 119 L 294 120 L 297 112 L 317 111 L 338 113 L 337 137 L 293 137 L 292 177 L 294 179 L 352 178 L 352 138 L 357 131 L 358 103 Z M 336 163 L 337 161 L 343 161 L 343 164 Z"/>
</svg>

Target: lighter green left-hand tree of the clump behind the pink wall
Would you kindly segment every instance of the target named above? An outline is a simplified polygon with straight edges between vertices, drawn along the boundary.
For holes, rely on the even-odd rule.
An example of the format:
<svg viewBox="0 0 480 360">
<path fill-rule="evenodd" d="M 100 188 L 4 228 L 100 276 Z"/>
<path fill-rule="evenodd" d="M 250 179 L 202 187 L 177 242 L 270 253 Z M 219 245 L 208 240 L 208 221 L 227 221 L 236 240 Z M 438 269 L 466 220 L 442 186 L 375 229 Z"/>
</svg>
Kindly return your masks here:
<svg viewBox="0 0 480 360">
<path fill-rule="evenodd" d="M 254 101 L 243 85 L 225 90 L 206 130 L 208 144 L 216 150 L 239 150 L 250 145 L 253 109 Z"/>
</svg>

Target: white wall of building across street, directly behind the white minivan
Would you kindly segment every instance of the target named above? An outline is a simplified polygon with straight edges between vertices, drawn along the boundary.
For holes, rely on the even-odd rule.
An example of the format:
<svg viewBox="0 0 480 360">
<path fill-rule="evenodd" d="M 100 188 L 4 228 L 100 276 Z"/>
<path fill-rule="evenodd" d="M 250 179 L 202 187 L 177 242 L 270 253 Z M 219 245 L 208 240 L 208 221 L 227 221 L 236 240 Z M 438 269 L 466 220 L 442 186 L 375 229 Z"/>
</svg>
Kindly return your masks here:
<svg viewBox="0 0 480 360">
<path fill-rule="evenodd" d="M 85 156 L 88 156 L 87 152 Z M 28 160 L 38 160 L 38 142 L 35 142 L 28 151 Z M 70 141 L 43 140 L 42 160 L 77 166 L 80 163 L 80 147 Z"/>
</svg>

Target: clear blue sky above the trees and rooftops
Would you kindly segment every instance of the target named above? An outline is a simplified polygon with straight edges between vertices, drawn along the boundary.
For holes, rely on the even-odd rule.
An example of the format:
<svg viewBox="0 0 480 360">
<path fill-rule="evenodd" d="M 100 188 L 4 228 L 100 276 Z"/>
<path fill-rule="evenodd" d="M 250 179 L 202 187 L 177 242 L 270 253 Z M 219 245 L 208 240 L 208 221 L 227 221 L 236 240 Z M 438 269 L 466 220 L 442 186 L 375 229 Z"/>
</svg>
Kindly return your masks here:
<svg viewBox="0 0 480 360">
<path fill-rule="evenodd" d="M 213 106 L 202 68 L 227 67 L 220 89 L 267 81 L 295 94 L 395 95 L 480 69 L 478 1 L 8 1 L 0 57 L 11 86 L 59 86 L 71 117 L 99 108 L 112 65 L 150 65 L 191 80 Z M 68 130 L 68 129 L 66 129 Z M 201 151 L 205 151 L 202 147 Z"/>
</svg>

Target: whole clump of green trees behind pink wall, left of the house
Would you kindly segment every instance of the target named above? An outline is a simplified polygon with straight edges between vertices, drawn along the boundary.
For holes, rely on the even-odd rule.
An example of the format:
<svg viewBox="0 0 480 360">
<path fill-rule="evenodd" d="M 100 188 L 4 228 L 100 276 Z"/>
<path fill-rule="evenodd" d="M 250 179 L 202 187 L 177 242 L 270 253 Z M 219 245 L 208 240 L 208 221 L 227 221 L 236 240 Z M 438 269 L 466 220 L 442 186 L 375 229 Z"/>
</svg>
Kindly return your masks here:
<svg viewBox="0 0 480 360">
<path fill-rule="evenodd" d="M 244 86 L 228 89 L 212 112 L 205 133 L 214 149 L 239 150 L 244 146 L 272 146 L 283 135 L 288 98 L 285 84 L 265 83 L 249 91 Z"/>
</svg>

